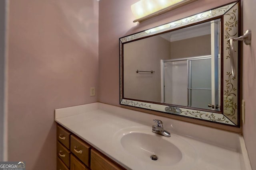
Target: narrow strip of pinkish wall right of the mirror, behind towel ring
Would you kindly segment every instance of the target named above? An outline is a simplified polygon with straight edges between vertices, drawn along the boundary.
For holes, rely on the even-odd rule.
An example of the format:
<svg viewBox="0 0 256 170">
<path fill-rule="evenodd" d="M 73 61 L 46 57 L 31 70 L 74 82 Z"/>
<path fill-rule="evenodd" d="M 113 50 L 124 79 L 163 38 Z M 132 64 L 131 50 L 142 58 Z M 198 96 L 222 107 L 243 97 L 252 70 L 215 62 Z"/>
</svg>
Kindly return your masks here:
<svg viewBox="0 0 256 170">
<path fill-rule="evenodd" d="M 256 170 L 256 1 L 243 0 L 243 32 L 252 30 L 252 44 L 243 44 L 243 99 L 245 100 L 245 124 L 243 135 L 252 170 Z"/>
</svg>

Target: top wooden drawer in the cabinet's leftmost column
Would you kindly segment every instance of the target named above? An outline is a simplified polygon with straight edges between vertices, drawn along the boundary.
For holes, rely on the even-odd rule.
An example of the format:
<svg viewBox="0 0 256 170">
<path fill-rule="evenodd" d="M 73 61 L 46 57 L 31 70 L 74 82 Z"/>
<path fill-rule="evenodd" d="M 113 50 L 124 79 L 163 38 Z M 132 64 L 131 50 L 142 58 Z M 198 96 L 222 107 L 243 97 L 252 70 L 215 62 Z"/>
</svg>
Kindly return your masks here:
<svg viewBox="0 0 256 170">
<path fill-rule="evenodd" d="M 70 149 L 70 134 L 71 133 L 63 127 L 57 126 L 57 139 L 68 149 Z"/>
</svg>

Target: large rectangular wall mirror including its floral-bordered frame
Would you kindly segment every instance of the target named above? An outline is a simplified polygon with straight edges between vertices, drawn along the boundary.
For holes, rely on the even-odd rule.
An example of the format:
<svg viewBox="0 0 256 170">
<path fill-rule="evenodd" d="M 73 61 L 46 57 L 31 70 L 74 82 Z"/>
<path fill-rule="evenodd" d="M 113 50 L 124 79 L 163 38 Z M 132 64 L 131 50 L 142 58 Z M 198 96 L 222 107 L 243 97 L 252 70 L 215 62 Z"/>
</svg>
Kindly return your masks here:
<svg viewBox="0 0 256 170">
<path fill-rule="evenodd" d="M 120 38 L 120 104 L 239 127 L 240 3 Z"/>
</svg>

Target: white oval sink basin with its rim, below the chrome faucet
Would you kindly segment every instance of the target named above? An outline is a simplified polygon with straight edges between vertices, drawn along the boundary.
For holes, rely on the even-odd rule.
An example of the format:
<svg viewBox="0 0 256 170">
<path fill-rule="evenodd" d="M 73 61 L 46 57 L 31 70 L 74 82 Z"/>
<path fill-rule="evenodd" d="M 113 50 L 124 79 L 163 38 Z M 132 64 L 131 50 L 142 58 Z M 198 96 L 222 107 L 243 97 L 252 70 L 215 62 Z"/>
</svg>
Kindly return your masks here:
<svg viewBox="0 0 256 170">
<path fill-rule="evenodd" d="M 117 149 L 143 164 L 145 169 L 189 170 L 197 161 L 193 146 L 178 135 L 171 137 L 153 133 L 150 127 L 128 127 L 114 135 Z M 150 156 L 157 156 L 152 160 Z M 136 169 L 136 166 L 134 168 Z"/>
</svg>

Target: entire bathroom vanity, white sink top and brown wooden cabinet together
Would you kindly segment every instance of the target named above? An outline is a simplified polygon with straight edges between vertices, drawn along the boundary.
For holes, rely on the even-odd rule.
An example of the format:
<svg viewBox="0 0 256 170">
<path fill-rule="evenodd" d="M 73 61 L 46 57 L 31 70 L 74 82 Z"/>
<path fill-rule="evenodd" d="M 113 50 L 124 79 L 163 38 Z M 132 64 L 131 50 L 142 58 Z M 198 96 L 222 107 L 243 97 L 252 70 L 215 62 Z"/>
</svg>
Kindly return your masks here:
<svg viewBox="0 0 256 170">
<path fill-rule="evenodd" d="M 153 119 L 171 137 L 153 133 Z M 102 103 L 56 109 L 55 121 L 58 170 L 251 170 L 237 133 Z"/>
</svg>

